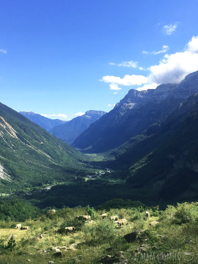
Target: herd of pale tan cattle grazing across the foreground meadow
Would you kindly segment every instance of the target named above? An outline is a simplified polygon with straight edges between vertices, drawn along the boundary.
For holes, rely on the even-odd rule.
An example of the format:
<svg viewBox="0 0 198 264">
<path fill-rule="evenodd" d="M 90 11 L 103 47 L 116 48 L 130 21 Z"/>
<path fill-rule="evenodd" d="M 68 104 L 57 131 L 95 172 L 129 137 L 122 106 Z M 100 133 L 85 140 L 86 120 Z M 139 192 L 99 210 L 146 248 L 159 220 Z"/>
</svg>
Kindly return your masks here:
<svg viewBox="0 0 198 264">
<path fill-rule="evenodd" d="M 48 211 L 48 214 L 50 214 L 50 213 L 56 213 L 56 210 L 55 209 L 51 209 L 51 210 Z M 104 214 L 99 215 L 99 216 L 102 216 L 102 219 L 105 219 L 105 218 L 108 217 L 107 213 L 104 213 Z M 150 213 L 148 211 L 145 211 L 145 220 L 148 220 L 149 217 L 150 217 Z M 126 224 L 126 219 L 125 218 L 118 220 L 118 216 L 117 215 L 109 216 L 109 218 L 111 220 L 113 220 L 114 223 L 117 224 L 120 229 L 122 227 L 125 227 L 125 224 Z M 76 216 L 76 219 L 85 220 L 87 223 L 91 222 L 91 216 L 90 215 L 79 215 L 79 216 Z M 17 224 L 15 229 L 28 230 L 29 227 L 21 227 L 21 224 Z M 69 233 L 69 232 L 72 232 L 72 231 L 75 231 L 75 230 L 76 230 L 75 227 L 65 227 L 65 233 Z"/>
</svg>

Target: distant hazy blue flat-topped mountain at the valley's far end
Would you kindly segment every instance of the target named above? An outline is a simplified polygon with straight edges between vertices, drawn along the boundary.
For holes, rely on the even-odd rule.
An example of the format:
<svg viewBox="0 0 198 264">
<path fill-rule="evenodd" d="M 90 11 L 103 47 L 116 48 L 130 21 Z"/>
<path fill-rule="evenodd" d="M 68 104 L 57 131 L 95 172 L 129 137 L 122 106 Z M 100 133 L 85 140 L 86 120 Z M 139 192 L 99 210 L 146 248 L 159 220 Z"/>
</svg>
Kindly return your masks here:
<svg viewBox="0 0 198 264">
<path fill-rule="evenodd" d="M 49 133 L 71 144 L 90 124 L 105 114 L 104 111 L 89 110 L 84 115 L 78 116 L 66 124 L 56 126 Z"/>
</svg>

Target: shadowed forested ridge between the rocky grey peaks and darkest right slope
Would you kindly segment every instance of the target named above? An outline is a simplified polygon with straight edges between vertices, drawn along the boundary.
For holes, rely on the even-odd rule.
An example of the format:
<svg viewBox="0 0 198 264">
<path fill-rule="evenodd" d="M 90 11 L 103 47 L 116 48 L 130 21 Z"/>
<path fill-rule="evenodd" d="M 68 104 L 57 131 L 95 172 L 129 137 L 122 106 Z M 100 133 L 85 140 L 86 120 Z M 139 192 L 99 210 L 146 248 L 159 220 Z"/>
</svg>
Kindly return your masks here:
<svg viewBox="0 0 198 264">
<path fill-rule="evenodd" d="M 196 93 L 188 97 L 171 114 L 149 126 L 145 131 L 134 136 L 118 148 L 111 150 L 108 155 L 116 159 L 111 162 L 111 166 L 114 168 L 127 167 L 153 152 L 177 131 L 197 101 L 198 94 Z"/>
</svg>

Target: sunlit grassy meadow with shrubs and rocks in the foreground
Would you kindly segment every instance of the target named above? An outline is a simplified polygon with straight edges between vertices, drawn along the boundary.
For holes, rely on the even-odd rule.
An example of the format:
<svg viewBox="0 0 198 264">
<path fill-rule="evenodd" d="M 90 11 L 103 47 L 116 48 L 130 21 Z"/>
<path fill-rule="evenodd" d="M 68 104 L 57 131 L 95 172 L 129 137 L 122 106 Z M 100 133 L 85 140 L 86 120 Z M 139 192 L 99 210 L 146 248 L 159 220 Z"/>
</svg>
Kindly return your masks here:
<svg viewBox="0 0 198 264">
<path fill-rule="evenodd" d="M 144 218 L 145 210 L 151 214 L 148 221 Z M 119 229 L 109 217 L 102 219 L 100 215 L 105 212 L 108 216 L 126 218 L 127 224 Z M 88 213 L 94 222 L 88 224 L 76 219 L 77 215 Z M 159 223 L 150 225 L 153 221 Z M 183 203 L 176 207 L 170 205 L 164 211 L 158 207 L 145 209 L 142 206 L 108 211 L 89 207 L 66 208 L 20 222 L 21 226 L 29 226 L 29 230 L 15 229 L 18 223 L 6 220 L 0 222 L 2 264 L 44 264 L 49 261 L 97 264 L 102 263 L 100 259 L 103 256 L 113 256 L 118 251 L 123 251 L 129 263 L 186 263 L 185 258 L 191 256 L 188 263 L 197 263 L 198 260 L 198 203 Z M 75 226 L 76 231 L 65 234 L 64 228 L 71 226 Z M 134 241 L 126 242 L 123 236 L 136 230 L 142 232 Z M 39 238 L 39 234 L 43 234 L 43 238 Z M 9 247 L 12 235 L 15 245 L 12 242 Z M 76 248 L 69 249 L 73 243 L 77 243 Z M 144 245 L 143 249 L 141 245 Z M 62 257 L 53 256 L 56 247 L 60 249 Z M 190 257 L 190 253 L 186 252 L 192 253 Z M 163 259 L 159 260 L 160 257 Z"/>
</svg>

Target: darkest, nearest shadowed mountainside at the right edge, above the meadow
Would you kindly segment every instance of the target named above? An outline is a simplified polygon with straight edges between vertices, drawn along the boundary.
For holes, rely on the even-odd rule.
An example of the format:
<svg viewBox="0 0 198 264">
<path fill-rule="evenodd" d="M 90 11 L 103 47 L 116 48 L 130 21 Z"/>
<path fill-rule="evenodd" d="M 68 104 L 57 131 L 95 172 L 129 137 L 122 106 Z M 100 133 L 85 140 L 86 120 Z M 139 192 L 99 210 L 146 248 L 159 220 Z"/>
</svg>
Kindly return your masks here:
<svg viewBox="0 0 198 264">
<path fill-rule="evenodd" d="M 197 100 L 197 95 L 195 95 Z M 193 98 L 191 98 L 193 99 Z M 195 101 L 191 100 L 192 105 Z M 190 103 L 190 100 L 189 100 Z M 187 104 L 186 104 L 187 106 Z M 188 104 L 190 107 L 190 104 Z M 150 144 L 150 152 L 132 163 L 127 181 L 134 188 L 150 188 L 159 198 L 170 200 L 175 197 L 181 200 L 197 199 L 198 191 L 198 102 L 192 111 L 177 118 L 176 123 L 165 120 L 159 133 L 167 130 L 161 136 L 161 144 L 151 149 L 155 140 L 144 142 Z M 172 121 L 174 121 L 172 119 Z M 167 124 L 166 124 L 167 122 Z M 162 122 L 163 123 L 163 122 Z M 169 126 L 172 123 L 172 127 Z M 168 131 L 168 129 L 170 129 Z M 158 133 L 158 134 L 159 134 Z M 169 136 L 168 136 L 169 135 Z M 154 137 L 151 135 L 151 138 Z M 158 137 L 159 138 L 159 137 Z M 135 149 L 134 149 L 135 150 Z M 129 154 L 129 153 L 128 153 Z"/>
</svg>

